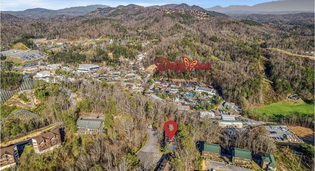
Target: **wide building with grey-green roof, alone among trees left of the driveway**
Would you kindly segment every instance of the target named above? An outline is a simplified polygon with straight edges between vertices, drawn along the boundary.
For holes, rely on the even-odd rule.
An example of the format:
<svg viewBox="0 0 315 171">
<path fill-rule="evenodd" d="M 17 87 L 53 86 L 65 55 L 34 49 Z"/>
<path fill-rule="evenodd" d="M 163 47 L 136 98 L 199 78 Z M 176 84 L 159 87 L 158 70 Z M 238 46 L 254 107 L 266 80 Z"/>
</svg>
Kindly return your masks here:
<svg viewBox="0 0 315 171">
<path fill-rule="evenodd" d="M 93 119 L 80 119 L 76 122 L 77 131 L 79 134 L 92 134 L 99 133 L 103 130 L 104 120 L 93 120 Z"/>
</svg>

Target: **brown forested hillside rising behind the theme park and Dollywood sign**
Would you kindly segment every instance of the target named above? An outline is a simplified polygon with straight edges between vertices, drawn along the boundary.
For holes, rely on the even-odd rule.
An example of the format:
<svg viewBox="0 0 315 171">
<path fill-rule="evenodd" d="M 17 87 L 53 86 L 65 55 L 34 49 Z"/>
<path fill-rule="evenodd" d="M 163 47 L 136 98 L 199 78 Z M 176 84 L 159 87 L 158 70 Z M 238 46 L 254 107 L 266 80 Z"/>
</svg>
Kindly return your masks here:
<svg viewBox="0 0 315 171">
<path fill-rule="evenodd" d="M 197 78 L 219 90 L 223 99 L 245 107 L 268 104 L 289 94 L 300 94 L 312 102 L 314 75 L 310 73 L 314 73 L 314 57 L 304 58 L 269 50 L 275 48 L 293 54 L 314 51 L 314 27 L 310 26 L 314 23 L 314 15 L 313 18 L 310 15 L 292 15 L 295 16 L 282 16 L 286 20 L 292 19 L 285 24 L 257 23 L 210 14 L 200 19 L 190 13 L 166 13 L 156 8 L 128 5 L 99 8 L 80 17 L 51 17 L 44 21 L 6 18 L 1 22 L 1 43 L 10 47 L 14 40 L 21 37 L 76 40 L 131 34 L 139 40 L 160 41 L 152 49 L 142 49 L 151 50 L 147 67 L 162 56 L 170 61 L 183 56 L 200 62 L 214 60 L 211 71 L 179 75 L 155 73 L 160 78 Z M 305 24 L 295 22 L 299 16 L 305 16 Z M 104 50 L 112 51 L 110 47 L 104 47 Z M 52 57 L 58 58 L 58 55 Z M 99 59 L 106 60 L 106 57 L 95 58 L 95 62 Z M 266 79 L 270 80 L 270 85 L 263 85 Z"/>
</svg>

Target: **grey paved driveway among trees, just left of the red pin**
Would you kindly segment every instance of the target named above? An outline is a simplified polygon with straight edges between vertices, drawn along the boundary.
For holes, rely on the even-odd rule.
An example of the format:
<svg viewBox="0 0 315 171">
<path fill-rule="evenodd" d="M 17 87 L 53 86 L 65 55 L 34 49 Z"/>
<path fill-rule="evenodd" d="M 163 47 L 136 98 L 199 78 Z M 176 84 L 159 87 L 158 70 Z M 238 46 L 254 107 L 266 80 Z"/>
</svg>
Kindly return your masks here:
<svg viewBox="0 0 315 171">
<path fill-rule="evenodd" d="M 143 171 L 151 171 L 162 156 L 158 150 L 158 137 L 156 136 L 155 131 L 149 129 L 147 132 L 149 140 L 137 154 L 138 159 L 140 159 L 142 163 Z"/>
</svg>

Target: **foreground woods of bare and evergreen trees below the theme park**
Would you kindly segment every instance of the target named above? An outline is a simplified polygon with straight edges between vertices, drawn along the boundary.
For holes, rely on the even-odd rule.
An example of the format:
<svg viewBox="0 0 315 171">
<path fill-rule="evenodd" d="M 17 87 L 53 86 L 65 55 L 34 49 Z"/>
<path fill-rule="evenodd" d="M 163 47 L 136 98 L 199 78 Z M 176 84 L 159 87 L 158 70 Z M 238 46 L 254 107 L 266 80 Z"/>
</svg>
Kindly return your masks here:
<svg viewBox="0 0 315 171">
<path fill-rule="evenodd" d="M 75 85 L 74 85 L 75 84 Z M 43 88 L 45 87 L 45 88 Z M 72 89 L 82 99 L 75 108 L 63 90 Z M 105 81 L 92 81 L 85 84 L 76 81 L 70 84 L 47 84 L 36 82 L 35 97 L 40 99 L 32 112 L 38 113 L 41 122 L 7 121 L 1 131 L 1 139 L 16 138 L 25 135 L 34 128 L 54 123 L 64 123 L 65 137 L 63 146 L 43 155 L 34 153 L 33 147 L 26 147 L 14 171 L 28 170 L 80 170 L 80 171 L 137 171 L 142 164 L 136 158 L 136 152 L 143 146 L 148 137 L 146 128 L 153 123 L 159 142 L 163 140 L 163 125 L 167 120 L 178 123 L 175 135 L 176 158 L 170 161 L 171 166 L 181 171 L 201 168 L 200 143 L 219 143 L 224 153 L 231 154 L 233 147 L 246 148 L 253 153 L 274 153 L 279 146 L 269 141 L 267 132 L 260 127 L 249 132 L 230 134 L 210 120 L 199 120 L 198 114 L 179 111 L 172 103 L 152 101 L 141 94 L 117 91 L 120 85 L 108 84 Z M 16 107 L 1 107 L 1 116 L 5 116 Z M 106 133 L 97 135 L 76 134 L 76 120 L 86 114 L 103 116 Z M 299 150 L 308 153 L 312 146 L 305 145 Z M 314 149 L 314 147 L 313 147 Z M 162 153 L 169 153 L 168 147 L 160 148 Z M 288 150 L 288 149 L 287 149 Z M 289 158 L 290 151 L 283 160 L 277 153 L 279 161 Z M 314 153 L 313 153 L 314 154 Z M 310 169 L 312 158 L 308 157 Z M 285 168 L 285 167 L 284 167 Z"/>
</svg>

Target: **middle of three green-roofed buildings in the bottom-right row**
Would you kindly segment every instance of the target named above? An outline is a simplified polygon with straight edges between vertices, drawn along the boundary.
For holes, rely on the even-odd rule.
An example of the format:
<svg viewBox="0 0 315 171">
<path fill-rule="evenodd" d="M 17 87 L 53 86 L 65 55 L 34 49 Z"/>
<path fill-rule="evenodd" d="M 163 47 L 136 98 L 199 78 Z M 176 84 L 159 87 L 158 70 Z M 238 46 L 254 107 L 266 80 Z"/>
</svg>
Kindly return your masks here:
<svg viewBox="0 0 315 171">
<path fill-rule="evenodd" d="M 238 165 L 252 165 L 252 152 L 250 150 L 234 147 L 232 155 L 233 163 Z"/>
</svg>

